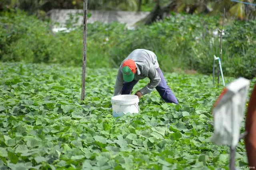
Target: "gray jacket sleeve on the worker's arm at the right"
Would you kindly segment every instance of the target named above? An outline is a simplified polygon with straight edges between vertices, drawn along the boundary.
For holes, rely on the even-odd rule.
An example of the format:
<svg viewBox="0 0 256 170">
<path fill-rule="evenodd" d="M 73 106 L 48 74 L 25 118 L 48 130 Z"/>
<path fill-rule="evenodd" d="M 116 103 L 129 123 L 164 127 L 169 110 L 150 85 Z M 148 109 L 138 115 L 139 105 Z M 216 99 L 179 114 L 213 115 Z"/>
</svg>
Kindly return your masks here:
<svg viewBox="0 0 256 170">
<path fill-rule="evenodd" d="M 156 86 L 158 86 L 158 84 L 161 81 L 161 78 L 160 78 L 157 70 L 154 68 L 154 66 L 152 64 L 150 64 L 150 69 L 148 71 L 147 76 L 150 79 L 150 82 L 144 88 L 142 88 L 140 90 L 142 95 L 152 92 L 154 90 L 154 88 L 156 88 Z"/>
</svg>

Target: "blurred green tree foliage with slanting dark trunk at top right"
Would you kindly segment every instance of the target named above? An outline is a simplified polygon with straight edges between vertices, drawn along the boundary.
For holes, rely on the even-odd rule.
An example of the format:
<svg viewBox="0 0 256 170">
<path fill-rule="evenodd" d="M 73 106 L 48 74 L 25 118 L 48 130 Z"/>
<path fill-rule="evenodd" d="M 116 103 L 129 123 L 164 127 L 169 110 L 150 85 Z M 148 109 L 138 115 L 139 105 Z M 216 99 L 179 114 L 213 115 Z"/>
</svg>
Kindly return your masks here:
<svg viewBox="0 0 256 170">
<path fill-rule="evenodd" d="M 242 0 L 248 3 L 256 3 L 256 0 Z M 238 20 L 255 20 L 255 6 L 232 2 L 231 0 L 154 0 L 155 7 L 146 18 L 139 23 L 151 24 L 156 20 L 161 20 L 170 12 L 182 12 L 186 14 L 207 14 L 219 15 L 225 8 L 228 16 Z"/>
</svg>

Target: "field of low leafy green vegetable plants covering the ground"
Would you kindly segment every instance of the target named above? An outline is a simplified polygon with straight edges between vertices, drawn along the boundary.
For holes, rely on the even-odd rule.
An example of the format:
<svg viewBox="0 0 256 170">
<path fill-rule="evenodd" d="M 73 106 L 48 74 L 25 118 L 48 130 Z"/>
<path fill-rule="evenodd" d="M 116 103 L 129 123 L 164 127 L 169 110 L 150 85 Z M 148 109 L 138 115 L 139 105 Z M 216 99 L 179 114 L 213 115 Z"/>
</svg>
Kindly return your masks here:
<svg viewBox="0 0 256 170">
<path fill-rule="evenodd" d="M 178 105 L 154 90 L 140 113 L 114 118 L 116 74 L 88 68 L 82 102 L 80 67 L 0 63 L 0 169 L 228 169 L 229 148 L 210 142 L 211 108 L 222 91 L 211 76 L 164 74 Z M 236 151 L 236 166 L 246 166 L 243 140 Z"/>
</svg>

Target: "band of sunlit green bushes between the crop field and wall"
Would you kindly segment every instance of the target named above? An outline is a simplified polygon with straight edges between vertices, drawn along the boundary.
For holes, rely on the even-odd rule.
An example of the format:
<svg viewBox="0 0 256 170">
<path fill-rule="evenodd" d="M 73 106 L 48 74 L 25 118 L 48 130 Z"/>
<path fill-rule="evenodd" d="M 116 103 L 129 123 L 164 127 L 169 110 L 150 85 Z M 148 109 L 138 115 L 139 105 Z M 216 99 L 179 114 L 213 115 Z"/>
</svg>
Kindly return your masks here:
<svg viewBox="0 0 256 170">
<path fill-rule="evenodd" d="M 116 67 L 137 48 L 156 53 L 160 67 L 194 69 L 212 74 L 213 56 L 219 56 L 218 17 L 173 14 L 162 22 L 126 29 L 124 24 L 88 23 L 87 66 Z M 0 60 L 61 63 L 80 66 L 82 29 L 52 33 L 50 24 L 18 12 L 0 16 Z M 256 21 L 224 26 L 222 68 L 225 76 L 256 76 Z"/>
</svg>

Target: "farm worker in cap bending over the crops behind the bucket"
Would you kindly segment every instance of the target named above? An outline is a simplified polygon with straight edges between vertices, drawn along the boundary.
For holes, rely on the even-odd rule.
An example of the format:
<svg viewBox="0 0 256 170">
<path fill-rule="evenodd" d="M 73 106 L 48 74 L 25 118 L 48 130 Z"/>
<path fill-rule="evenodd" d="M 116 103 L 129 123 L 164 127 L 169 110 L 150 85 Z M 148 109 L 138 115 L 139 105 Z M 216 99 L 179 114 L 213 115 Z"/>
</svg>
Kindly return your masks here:
<svg viewBox="0 0 256 170">
<path fill-rule="evenodd" d="M 155 53 L 146 49 L 136 49 L 122 61 L 114 86 L 114 96 L 130 94 L 134 85 L 146 77 L 150 82 L 136 92 L 136 96 L 141 98 L 156 88 L 165 102 L 178 104 L 177 98 L 166 84 Z"/>
</svg>

